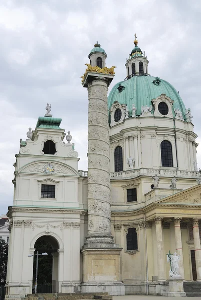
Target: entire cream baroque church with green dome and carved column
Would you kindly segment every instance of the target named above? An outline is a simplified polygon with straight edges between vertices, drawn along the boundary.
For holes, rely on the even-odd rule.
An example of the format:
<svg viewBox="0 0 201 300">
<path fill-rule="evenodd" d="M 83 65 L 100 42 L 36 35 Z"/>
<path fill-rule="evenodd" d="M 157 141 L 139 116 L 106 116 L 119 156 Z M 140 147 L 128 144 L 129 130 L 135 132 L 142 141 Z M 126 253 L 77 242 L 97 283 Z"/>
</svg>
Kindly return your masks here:
<svg viewBox="0 0 201 300">
<path fill-rule="evenodd" d="M 180 255 L 181 279 L 201 281 L 192 115 L 170 83 L 149 75 L 148 59 L 134 44 L 126 76 L 108 98 L 114 67 L 105 67 L 100 44 L 89 54 L 82 80 L 89 97 L 88 172 L 78 170 L 72 136 L 49 104 L 20 140 L 8 212 L 7 297 L 31 293 L 28 255 L 40 240 L 52 246 L 52 292 L 167 295 L 169 251 Z"/>
</svg>

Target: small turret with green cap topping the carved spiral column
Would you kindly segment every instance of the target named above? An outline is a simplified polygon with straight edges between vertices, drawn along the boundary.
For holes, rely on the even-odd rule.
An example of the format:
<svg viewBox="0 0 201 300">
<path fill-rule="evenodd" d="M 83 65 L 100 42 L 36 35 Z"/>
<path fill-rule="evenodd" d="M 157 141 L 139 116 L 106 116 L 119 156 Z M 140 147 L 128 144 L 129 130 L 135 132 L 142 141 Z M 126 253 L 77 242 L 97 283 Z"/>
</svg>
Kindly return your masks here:
<svg viewBox="0 0 201 300">
<path fill-rule="evenodd" d="M 89 59 L 91 66 L 99 66 L 100 68 L 105 67 L 105 59 L 107 54 L 105 50 L 101 48 L 101 45 L 97 41 L 94 45 L 94 48 L 89 53 Z"/>
</svg>

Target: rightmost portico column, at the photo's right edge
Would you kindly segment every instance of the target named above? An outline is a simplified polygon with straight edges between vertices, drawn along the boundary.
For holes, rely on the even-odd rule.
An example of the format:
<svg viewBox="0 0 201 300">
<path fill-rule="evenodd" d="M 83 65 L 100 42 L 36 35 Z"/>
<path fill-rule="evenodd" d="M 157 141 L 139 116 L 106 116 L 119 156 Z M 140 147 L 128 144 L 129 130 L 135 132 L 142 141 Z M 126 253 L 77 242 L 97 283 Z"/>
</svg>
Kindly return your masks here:
<svg viewBox="0 0 201 300">
<path fill-rule="evenodd" d="M 200 236 L 199 236 L 199 221 L 200 218 L 197 217 L 192 219 L 197 281 L 201 281 L 201 245 L 200 245 Z"/>
</svg>

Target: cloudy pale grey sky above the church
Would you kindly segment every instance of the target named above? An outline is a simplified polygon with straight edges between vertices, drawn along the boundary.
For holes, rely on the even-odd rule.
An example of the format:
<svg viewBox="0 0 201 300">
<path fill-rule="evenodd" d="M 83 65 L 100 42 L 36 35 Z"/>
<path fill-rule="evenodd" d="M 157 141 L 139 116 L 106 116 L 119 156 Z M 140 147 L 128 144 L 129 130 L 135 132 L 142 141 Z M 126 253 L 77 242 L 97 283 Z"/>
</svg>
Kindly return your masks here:
<svg viewBox="0 0 201 300">
<path fill-rule="evenodd" d="M 47 102 L 62 118 L 61 128 L 71 131 L 79 169 L 87 169 L 88 96 L 79 77 L 96 40 L 108 55 L 107 66 L 117 66 L 112 87 L 126 77 L 136 33 L 149 73 L 179 90 L 201 137 L 200 15 L 200 0 L 1 1 L 0 214 L 12 205 L 19 140 L 35 128 Z"/>
</svg>

